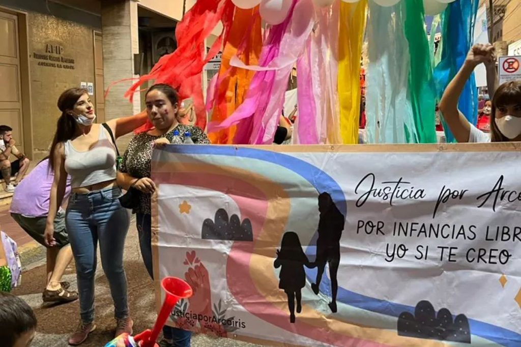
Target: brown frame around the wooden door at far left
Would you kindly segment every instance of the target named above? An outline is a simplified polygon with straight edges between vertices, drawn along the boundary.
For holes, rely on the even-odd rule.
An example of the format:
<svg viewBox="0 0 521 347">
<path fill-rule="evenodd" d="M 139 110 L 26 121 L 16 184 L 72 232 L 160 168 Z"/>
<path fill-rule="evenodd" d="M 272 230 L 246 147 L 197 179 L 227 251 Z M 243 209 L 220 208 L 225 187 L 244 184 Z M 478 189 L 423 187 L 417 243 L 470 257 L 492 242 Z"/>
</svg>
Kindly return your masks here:
<svg viewBox="0 0 521 347">
<path fill-rule="evenodd" d="M 32 105 L 31 105 L 31 71 L 29 68 L 29 13 L 13 8 L 0 6 L 0 11 L 18 17 L 18 46 L 20 54 L 20 86 L 22 99 L 22 134 L 24 154 L 33 159 Z"/>
</svg>

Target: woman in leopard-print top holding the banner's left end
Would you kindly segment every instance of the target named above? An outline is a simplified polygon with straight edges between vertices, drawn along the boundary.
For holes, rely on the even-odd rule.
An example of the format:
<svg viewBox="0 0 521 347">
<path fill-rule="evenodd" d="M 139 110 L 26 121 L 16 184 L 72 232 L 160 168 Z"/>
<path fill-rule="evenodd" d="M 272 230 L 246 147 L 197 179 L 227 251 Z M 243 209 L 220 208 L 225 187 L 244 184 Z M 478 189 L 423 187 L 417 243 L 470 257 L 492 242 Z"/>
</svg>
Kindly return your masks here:
<svg viewBox="0 0 521 347">
<path fill-rule="evenodd" d="M 156 190 L 151 176 L 152 150 L 154 146 L 170 144 L 180 134 L 191 136 L 195 144 L 209 144 L 208 136 L 199 128 L 179 123 L 179 97 L 175 89 L 167 84 L 156 84 L 146 92 L 146 110 L 148 119 L 154 126 L 152 130 L 138 134 L 132 138 L 123 155 L 119 169 L 118 184 L 123 189 L 137 189 L 139 206 L 136 222 L 139 233 L 139 244 L 143 262 L 150 277 L 154 278 L 152 266 L 152 210 L 151 196 Z M 165 326 L 161 347 L 189 347 L 192 333 Z"/>
</svg>

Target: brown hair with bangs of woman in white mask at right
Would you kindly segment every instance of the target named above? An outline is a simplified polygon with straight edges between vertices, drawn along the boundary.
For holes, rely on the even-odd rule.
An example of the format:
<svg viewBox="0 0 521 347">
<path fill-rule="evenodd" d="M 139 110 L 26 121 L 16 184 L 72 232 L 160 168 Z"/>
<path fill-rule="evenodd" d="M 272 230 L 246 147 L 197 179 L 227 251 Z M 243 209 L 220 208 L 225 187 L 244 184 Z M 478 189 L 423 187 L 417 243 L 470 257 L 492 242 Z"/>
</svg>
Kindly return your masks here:
<svg viewBox="0 0 521 347">
<path fill-rule="evenodd" d="M 508 137 L 503 135 L 498 126 L 495 124 L 495 112 L 499 107 L 506 107 L 508 105 L 521 104 L 521 82 L 507 82 L 503 83 L 492 98 L 492 112 L 490 113 L 490 138 L 492 142 L 508 142 L 511 141 Z"/>
</svg>

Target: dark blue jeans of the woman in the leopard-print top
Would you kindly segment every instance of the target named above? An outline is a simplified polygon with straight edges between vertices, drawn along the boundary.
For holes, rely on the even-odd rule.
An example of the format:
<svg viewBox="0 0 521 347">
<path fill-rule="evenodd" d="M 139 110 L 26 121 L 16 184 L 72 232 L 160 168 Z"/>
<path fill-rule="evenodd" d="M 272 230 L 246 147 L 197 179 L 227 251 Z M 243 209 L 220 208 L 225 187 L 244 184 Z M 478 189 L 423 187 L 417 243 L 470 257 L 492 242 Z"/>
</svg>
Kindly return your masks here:
<svg viewBox="0 0 521 347">
<path fill-rule="evenodd" d="M 152 266 L 152 216 L 150 214 L 138 213 L 136 215 L 136 223 L 138 225 L 141 256 L 143 257 L 148 275 L 154 279 Z M 173 340 L 173 347 L 190 347 L 192 332 L 165 326 L 163 328 L 163 336 L 167 340 Z"/>
</svg>

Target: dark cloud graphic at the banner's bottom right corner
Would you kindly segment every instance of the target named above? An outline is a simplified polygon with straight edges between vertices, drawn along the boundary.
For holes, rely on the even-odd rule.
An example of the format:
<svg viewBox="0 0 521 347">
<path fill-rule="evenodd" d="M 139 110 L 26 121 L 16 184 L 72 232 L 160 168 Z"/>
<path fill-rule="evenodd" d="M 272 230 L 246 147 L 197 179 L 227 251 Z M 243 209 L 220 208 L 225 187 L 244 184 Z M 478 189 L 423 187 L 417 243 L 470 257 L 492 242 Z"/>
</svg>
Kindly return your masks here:
<svg viewBox="0 0 521 347">
<path fill-rule="evenodd" d="M 470 326 L 465 315 L 460 314 L 453 319 L 447 309 L 441 309 L 436 315 L 430 302 L 420 301 L 416 305 L 414 316 L 409 312 L 402 312 L 398 317 L 398 335 L 470 343 Z"/>
</svg>

